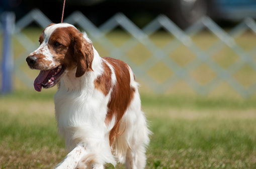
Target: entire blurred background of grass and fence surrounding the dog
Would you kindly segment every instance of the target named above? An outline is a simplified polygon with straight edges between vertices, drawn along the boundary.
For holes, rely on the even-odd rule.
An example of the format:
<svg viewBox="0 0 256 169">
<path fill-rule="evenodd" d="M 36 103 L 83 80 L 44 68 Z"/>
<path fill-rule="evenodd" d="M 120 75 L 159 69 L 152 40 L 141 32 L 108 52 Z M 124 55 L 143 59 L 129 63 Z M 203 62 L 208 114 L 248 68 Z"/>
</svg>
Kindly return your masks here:
<svg viewBox="0 0 256 169">
<path fill-rule="evenodd" d="M 56 87 L 36 92 L 39 71 L 25 61 L 62 6 L 0 0 L 2 168 L 52 168 L 65 156 Z M 154 132 L 147 168 L 255 168 L 255 19 L 256 0 L 66 0 L 63 22 L 132 67 Z"/>
</svg>

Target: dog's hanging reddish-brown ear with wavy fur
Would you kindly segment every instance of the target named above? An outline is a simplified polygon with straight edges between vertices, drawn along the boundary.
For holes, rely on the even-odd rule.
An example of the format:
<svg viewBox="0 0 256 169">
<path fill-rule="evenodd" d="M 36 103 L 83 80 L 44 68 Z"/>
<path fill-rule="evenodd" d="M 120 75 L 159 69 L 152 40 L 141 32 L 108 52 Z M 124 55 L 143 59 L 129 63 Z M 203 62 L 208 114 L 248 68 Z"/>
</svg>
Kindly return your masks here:
<svg viewBox="0 0 256 169">
<path fill-rule="evenodd" d="M 92 62 L 94 58 L 92 41 L 83 37 L 82 33 L 77 33 L 74 36 L 74 57 L 77 62 L 75 72 L 76 77 L 82 76 L 87 69 L 92 69 Z"/>
</svg>

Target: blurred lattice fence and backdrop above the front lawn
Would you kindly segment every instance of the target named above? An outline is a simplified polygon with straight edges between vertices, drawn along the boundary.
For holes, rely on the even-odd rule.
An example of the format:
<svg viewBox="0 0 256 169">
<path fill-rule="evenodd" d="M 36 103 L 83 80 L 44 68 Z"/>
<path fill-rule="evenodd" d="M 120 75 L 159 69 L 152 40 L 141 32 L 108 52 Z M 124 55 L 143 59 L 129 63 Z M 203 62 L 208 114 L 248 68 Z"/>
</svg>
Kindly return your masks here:
<svg viewBox="0 0 256 169">
<path fill-rule="evenodd" d="M 32 88 L 35 71 L 24 58 L 42 29 L 60 22 L 62 5 L 1 1 L 3 38 L 4 13 L 13 12 L 10 47 L 1 47 L 14 56 L 14 88 Z M 87 31 L 102 56 L 130 64 L 143 92 L 250 97 L 256 91 L 255 11 L 255 0 L 67 0 L 64 22 Z"/>
</svg>

